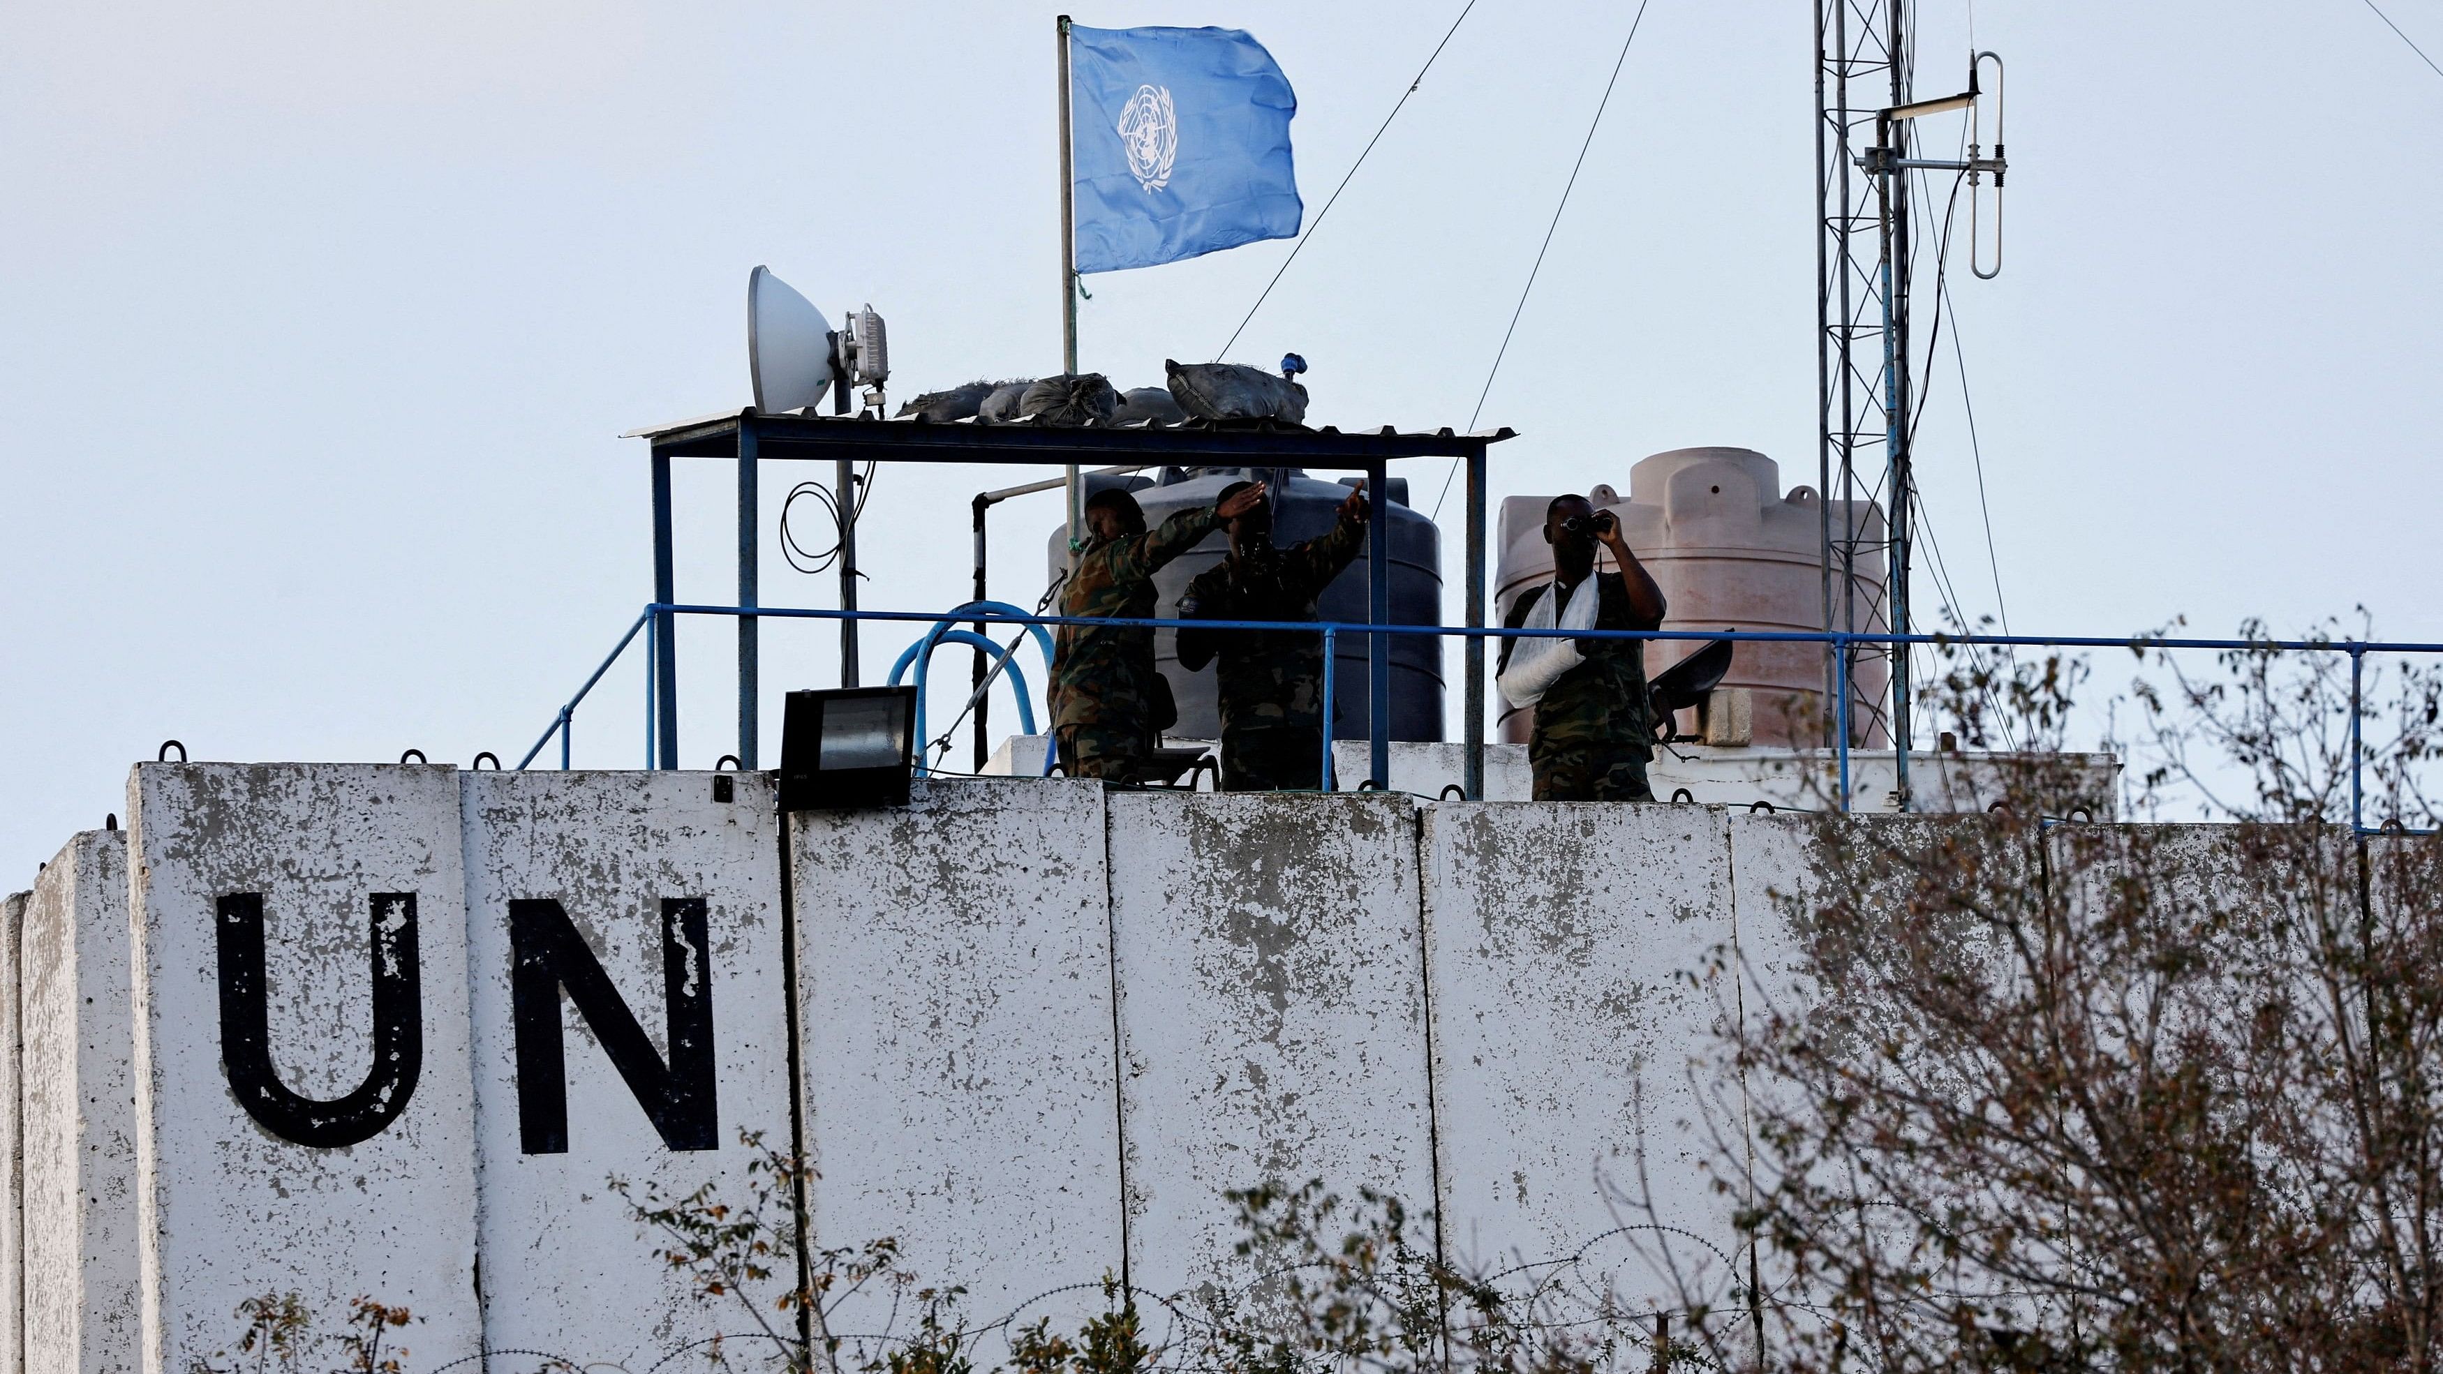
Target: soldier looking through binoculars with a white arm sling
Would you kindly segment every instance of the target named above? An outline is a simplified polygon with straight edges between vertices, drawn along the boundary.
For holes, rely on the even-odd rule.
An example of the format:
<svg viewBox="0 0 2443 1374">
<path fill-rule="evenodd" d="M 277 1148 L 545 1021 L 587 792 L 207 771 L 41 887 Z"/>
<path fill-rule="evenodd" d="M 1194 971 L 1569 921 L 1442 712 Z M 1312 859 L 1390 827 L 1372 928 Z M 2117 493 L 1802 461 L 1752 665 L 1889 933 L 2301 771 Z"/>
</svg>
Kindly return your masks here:
<svg viewBox="0 0 2443 1374">
<path fill-rule="evenodd" d="M 1527 588 L 1502 620 L 1527 622 L 1544 595 L 1586 591 L 1593 578 L 1595 630 L 1661 630 L 1664 593 L 1654 586 L 1612 513 L 1598 515 L 1583 495 L 1561 495 L 1544 510 L 1554 581 Z M 1617 574 L 1595 574 L 1595 547 L 1612 552 Z M 1559 608 L 1556 608 L 1559 610 Z M 1559 620 L 1559 617 L 1556 617 Z M 1500 671 L 1510 669 L 1517 639 L 1502 639 Z M 1647 761 L 1654 757 L 1654 720 L 1647 700 L 1644 639 L 1578 639 L 1583 661 L 1544 688 L 1534 708 L 1527 764 L 1537 800 L 1654 800 Z"/>
</svg>

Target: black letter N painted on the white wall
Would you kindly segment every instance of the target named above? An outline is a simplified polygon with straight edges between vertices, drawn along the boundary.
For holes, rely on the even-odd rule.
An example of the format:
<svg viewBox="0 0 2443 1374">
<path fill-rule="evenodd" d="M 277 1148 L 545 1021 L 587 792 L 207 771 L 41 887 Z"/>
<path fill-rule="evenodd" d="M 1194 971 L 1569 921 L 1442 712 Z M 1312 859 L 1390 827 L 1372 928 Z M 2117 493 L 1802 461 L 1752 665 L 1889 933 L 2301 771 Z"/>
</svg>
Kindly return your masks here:
<svg viewBox="0 0 2443 1374">
<path fill-rule="evenodd" d="M 594 1030 L 611 1066 L 635 1093 L 662 1145 L 718 1149 L 713 1101 L 713 988 L 706 964 L 704 898 L 662 901 L 662 993 L 669 1062 L 652 1052 L 611 974 L 577 923 L 552 898 L 508 903 L 511 1020 L 518 1032 L 518 1145 L 525 1154 L 569 1149 L 569 1081 L 562 1049 L 559 991 Z"/>
</svg>

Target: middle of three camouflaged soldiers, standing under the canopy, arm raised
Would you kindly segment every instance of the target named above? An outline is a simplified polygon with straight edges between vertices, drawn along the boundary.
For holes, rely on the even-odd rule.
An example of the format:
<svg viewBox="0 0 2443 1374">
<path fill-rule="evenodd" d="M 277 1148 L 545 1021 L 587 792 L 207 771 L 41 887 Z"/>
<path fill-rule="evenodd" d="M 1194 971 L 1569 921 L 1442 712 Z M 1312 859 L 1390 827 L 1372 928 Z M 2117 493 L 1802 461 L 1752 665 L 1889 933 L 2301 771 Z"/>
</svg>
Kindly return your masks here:
<svg viewBox="0 0 2443 1374">
<path fill-rule="evenodd" d="M 1256 483 L 1222 488 L 1229 500 Z M 1258 488 L 1261 491 L 1261 488 Z M 1273 547 L 1273 510 L 1229 522 L 1229 556 L 1180 595 L 1180 620 L 1314 620 L 1314 598 L 1366 542 L 1366 493 L 1341 503 L 1329 534 Z M 1222 788 L 1324 786 L 1324 637 L 1295 630 L 1180 630 L 1180 666 L 1214 666 L 1222 698 Z"/>
</svg>

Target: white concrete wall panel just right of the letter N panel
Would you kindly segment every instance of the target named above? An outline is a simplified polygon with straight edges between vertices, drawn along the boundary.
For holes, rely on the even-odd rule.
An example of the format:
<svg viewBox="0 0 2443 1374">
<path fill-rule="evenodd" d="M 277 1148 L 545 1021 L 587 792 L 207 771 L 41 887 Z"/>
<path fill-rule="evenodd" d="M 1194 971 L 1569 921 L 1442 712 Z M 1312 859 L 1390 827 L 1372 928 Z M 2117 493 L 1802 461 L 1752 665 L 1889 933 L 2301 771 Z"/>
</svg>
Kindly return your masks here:
<svg viewBox="0 0 2443 1374">
<path fill-rule="evenodd" d="M 1102 832 L 1094 781 L 792 825 L 816 1245 L 899 1237 L 970 1323 L 1082 1284 L 1021 1313 L 1075 1330 L 1121 1267 Z M 879 1325 L 875 1301 L 840 1330 Z"/>
</svg>

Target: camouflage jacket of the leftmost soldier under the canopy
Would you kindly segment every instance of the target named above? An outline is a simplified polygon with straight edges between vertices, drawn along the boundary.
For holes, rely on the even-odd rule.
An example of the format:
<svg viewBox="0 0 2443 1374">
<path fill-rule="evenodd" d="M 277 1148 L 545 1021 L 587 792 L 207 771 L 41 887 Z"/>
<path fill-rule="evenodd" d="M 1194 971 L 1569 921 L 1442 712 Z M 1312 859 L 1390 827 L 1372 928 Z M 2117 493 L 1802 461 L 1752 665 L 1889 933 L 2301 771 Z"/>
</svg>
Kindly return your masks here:
<svg viewBox="0 0 2443 1374">
<path fill-rule="evenodd" d="M 1180 510 L 1146 534 L 1094 539 L 1077 552 L 1060 615 L 1151 620 L 1153 574 L 1214 532 L 1212 508 Z M 1104 725 L 1153 730 L 1153 630 L 1063 625 L 1053 642 L 1053 730 Z"/>
</svg>

